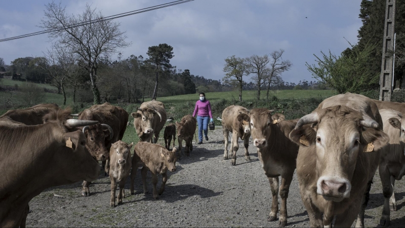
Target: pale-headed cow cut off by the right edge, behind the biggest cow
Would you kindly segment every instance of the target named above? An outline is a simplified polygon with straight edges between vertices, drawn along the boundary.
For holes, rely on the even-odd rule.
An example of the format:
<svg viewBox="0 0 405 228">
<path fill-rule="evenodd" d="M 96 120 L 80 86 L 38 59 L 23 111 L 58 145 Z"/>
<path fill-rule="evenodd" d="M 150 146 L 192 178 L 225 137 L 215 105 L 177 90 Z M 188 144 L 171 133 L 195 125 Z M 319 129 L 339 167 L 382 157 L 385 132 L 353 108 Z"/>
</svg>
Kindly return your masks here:
<svg viewBox="0 0 405 228">
<path fill-rule="evenodd" d="M 396 210 L 394 194 L 395 180 L 405 174 L 405 119 L 403 113 L 393 109 L 380 109 L 384 132 L 389 136 L 389 143 L 381 150 L 379 174 L 383 186 L 384 207 L 380 225 L 390 223 L 390 210 Z"/>
</svg>

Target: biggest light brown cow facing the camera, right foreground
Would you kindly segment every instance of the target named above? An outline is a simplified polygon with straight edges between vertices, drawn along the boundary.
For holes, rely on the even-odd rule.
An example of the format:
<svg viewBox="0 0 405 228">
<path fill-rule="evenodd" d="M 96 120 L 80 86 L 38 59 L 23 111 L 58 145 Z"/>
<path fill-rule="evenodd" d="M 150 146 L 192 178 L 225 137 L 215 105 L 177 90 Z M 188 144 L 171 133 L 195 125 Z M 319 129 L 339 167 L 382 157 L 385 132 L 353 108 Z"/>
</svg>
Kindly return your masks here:
<svg viewBox="0 0 405 228">
<path fill-rule="evenodd" d="M 297 176 L 310 226 L 364 227 L 364 211 L 380 150 L 389 140 L 377 105 L 340 94 L 302 117 L 290 139 L 300 145 Z M 323 215 L 322 215 L 323 214 Z"/>
</svg>

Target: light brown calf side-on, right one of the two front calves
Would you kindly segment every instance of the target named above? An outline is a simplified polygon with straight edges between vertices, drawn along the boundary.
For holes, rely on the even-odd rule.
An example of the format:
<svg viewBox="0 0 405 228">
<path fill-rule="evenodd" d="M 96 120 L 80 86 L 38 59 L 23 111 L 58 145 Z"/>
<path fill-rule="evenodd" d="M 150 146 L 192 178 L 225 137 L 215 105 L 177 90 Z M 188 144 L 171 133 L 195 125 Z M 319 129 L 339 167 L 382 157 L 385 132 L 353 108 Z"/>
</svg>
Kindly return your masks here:
<svg viewBox="0 0 405 228">
<path fill-rule="evenodd" d="M 165 191 L 165 184 L 168 180 L 167 171 L 176 171 L 176 147 L 172 151 L 167 150 L 164 146 L 152 144 L 149 142 L 138 142 L 134 147 L 134 156 L 132 158 L 132 171 L 131 171 L 131 195 L 134 194 L 134 179 L 139 166 L 142 166 L 142 183 L 143 193 L 146 194 L 146 172 L 150 170 L 152 173 L 153 184 L 153 198 L 157 199 Z M 160 185 L 159 192 L 157 192 L 157 174 L 161 174 L 162 184 Z"/>
</svg>

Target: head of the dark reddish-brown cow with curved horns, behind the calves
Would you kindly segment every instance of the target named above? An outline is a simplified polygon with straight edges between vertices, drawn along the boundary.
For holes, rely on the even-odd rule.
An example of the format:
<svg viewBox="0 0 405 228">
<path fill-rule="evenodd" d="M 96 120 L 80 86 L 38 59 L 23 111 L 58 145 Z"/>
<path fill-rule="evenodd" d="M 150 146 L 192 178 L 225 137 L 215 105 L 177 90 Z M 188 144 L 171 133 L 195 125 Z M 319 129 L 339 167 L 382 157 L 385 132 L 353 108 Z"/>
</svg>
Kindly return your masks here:
<svg viewBox="0 0 405 228">
<path fill-rule="evenodd" d="M 113 131 L 107 124 L 96 124 L 92 126 L 85 126 L 83 133 L 87 138 L 86 147 L 90 154 L 97 159 L 97 161 L 104 161 L 109 157 L 109 151 L 105 146 L 105 140 L 110 140 L 113 136 Z"/>
</svg>

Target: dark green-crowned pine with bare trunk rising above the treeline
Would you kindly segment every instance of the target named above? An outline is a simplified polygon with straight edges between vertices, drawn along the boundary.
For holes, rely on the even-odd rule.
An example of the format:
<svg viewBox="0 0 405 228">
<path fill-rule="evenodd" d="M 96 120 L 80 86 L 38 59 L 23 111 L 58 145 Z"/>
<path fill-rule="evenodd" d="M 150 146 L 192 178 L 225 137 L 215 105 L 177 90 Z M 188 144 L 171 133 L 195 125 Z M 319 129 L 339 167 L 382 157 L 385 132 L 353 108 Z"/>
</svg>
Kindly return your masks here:
<svg viewBox="0 0 405 228">
<path fill-rule="evenodd" d="M 170 59 L 174 57 L 173 47 L 167 44 L 159 44 L 158 46 L 152 46 L 148 48 L 146 53 L 149 59 L 146 61 L 155 66 L 155 88 L 153 89 L 153 98 L 156 99 L 157 87 L 159 85 L 159 71 L 169 70 L 172 68 Z M 160 69 L 160 67 L 162 69 Z"/>
</svg>

